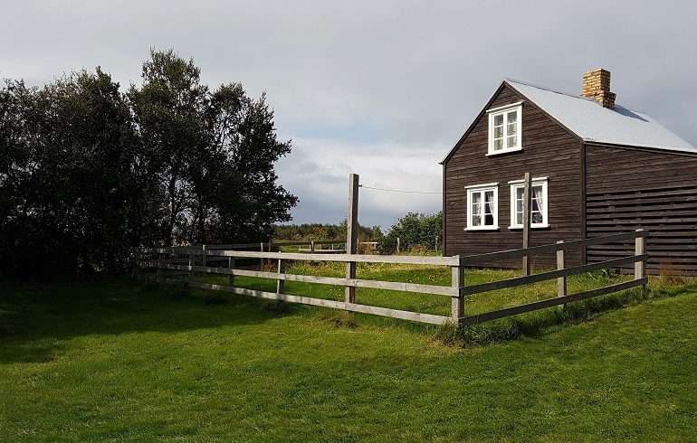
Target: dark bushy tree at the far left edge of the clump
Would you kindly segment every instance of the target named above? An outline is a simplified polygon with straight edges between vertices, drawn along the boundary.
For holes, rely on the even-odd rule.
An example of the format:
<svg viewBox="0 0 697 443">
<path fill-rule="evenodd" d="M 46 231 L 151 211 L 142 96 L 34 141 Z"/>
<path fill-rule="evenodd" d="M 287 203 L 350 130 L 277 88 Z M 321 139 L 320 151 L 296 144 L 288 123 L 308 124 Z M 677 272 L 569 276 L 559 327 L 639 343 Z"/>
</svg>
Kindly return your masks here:
<svg viewBox="0 0 697 443">
<path fill-rule="evenodd" d="M 124 266 L 130 124 L 119 84 L 98 68 L 42 90 L 10 80 L 0 96 L 3 261 L 68 274 Z"/>
</svg>

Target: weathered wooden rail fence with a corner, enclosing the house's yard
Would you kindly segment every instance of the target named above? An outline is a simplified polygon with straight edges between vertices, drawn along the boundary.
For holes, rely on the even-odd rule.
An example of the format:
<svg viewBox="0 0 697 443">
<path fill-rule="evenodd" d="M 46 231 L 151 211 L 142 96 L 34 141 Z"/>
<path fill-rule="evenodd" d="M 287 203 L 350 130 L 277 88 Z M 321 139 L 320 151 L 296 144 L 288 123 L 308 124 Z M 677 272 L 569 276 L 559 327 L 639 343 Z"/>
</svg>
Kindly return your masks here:
<svg viewBox="0 0 697 443">
<path fill-rule="evenodd" d="M 290 252 L 269 252 L 269 251 L 241 251 L 241 250 L 219 250 L 214 248 L 138 248 L 136 250 L 136 269 L 135 272 L 138 278 L 149 279 L 158 282 L 173 283 L 190 287 L 202 287 L 206 289 L 221 290 L 242 294 L 252 297 L 270 298 L 283 300 L 293 303 L 302 303 L 314 306 L 326 306 L 336 309 L 345 309 L 347 311 L 362 312 L 374 314 L 377 316 L 391 316 L 406 320 L 413 320 L 431 324 L 444 324 L 452 322 L 454 325 L 472 325 L 485 321 L 501 318 L 505 316 L 513 316 L 525 312 L 530 312 L 537 309 L 542 309 L 549 306 L 558 306 L 573 301 L 582 300 L 589 297 L 597 297 L 612 292 L 624 290 L 630 287 L 644 286 L 648 279 L 646 278 L 646 236 L 648 231 L 637 230 L 622 234 L 610 235 L 606 237 L 575 240 L 563 242 L 559 241 L 556 244 L 538 246 L 524 250 L 503 250 L 500 252 L 492 252 L 488 254 L 474 256 L 454 256 L 454 257 L 415 257 L 415 256 L 368 256 L 358 254 L 336 254 L 326 255 L 322 257 L 323 261 L 339 261 L 347 264 L 346 278 L 335 277 L 319 277 L 287 274 L 285 272 L 286 263 L 291 261 L 317 261 L 317 256 L 313 254 L 301 254 Z M 577 266 L 572 268 L 566 267 L 565 253 L 567 250 L 575 250 L 587 248 L 588 246 L 606 244 L 610 242 L 634 241 L 635 253 L 626 257 L 610 259 L 602 262 Z M 530 276 L 518 278 L 509 278 L 491 283 L 482 283 L 479 285 L 465 286 L 464 274 L 465 269 L 470 266 L 476 266 L 483 262 L 492 262 L 497 260 L 522 259 L 537 254 L 556 253 L 557 254 L 557 269 L 546 272 L 540 272 Z M 148 257 L 150 256 L 150 257 Z M 186 264 L 181 263 L 186 259 Z M 235 269 L 235 260 L 237 259 L 261 259 L 273 260 L 276 264 L 276 271 L 269 270 L 249 270 Z M 358 262 L 372 263 L 403 263 L 415 265 L 441 265 L 451 268 L 451 285 L 450 287 L 422 285 L 407 282 L 379 281 L 356 278 L 355 264 Z M 200 263 L 196 265 L 196 263 Z M 204 265 L 206 263 L 206 265 Z M 207 266 L 208 264 L 217 264 L 218 266 Z M 584 292 L 567 294 L 567 278 L 572 275 L 582 274 L 600 269 L 621 269 L 628 264 L 634 264 L 634 278 L 623 283 L 617 283 L 606 287 L 599 287 Z M 143 269 L 154 269 L 155 275 L 143 272 Z M 351 270 L 352 269 L 352 270 Z M 167 271 L 186 272 L 188 278 L 186 280 L 168 278 L 164 273 Z M 216 285 L 211 283 L 202 283 L 194 281 L 194 273 L 220 274 L 228 277 L 227 285 Z M 271 278 L 276 280 L 276 291 L 266 292 L 244 287 L 234 286 L 235 276 L 248 276 L 255 278 Z M 545 298 L 539 301 L 528 303 L 520 306 L 511 306 L 503 309 L 498 309 L 486 313 L 465 315 L 466 297 L 482 292 L 502 289 L 507 287 L 519 287 L 539 281 L 557 279 L 557 297 Z M 346 297 L 343 301 L 331 300 L 324 298 L 302 297 L 291 294 L 285 294 L 284 284 L 286 281 L 301 281 L 307 283 L 319 283 L 324 285 L 334 285 L 346 287 Z M 451 299 L 451 315 L 437 316 L 432 314 L 418 313 L 412 311 L 403 311 L 380 306 L 361 305 L 355 301 L 355 289 L 357 287 L 371 287 L 376 289 L 388 289 L 405 292 L 415 292 L 434 296 L 450 297 Z"/>
</svg>

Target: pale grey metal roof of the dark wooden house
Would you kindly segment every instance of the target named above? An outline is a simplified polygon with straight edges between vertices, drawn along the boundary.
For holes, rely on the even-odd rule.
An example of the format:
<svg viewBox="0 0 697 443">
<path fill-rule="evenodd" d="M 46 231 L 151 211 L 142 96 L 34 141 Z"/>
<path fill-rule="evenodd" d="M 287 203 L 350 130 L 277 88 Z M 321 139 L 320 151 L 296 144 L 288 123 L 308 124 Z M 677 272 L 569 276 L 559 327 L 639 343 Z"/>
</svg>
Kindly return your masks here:
<svg viewBox="0 0 697 443">
<path fill-rule="evenodd" d="M 644 113 L 619 105 L 603 108 L 593 99 L 519 80 L 503 81 L 585 141 L 697 153 L 696 147 Z"/>
</svg>

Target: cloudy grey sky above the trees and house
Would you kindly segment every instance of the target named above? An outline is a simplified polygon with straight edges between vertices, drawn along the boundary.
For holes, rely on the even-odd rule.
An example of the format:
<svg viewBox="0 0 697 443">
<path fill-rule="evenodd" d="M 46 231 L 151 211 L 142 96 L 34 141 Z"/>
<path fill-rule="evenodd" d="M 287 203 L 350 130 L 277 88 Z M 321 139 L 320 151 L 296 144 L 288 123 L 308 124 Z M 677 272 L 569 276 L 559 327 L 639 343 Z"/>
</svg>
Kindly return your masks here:
<svg viewBox="0 0 697 443">
<path fill-rule="evenodd" d="M 149 49 L 204 83 L 264 90 L 292 152 L 276 166 L 293 222 L 384 230 L 441 209 L 438 165 L 504 77 L 579 94 L 612 72 L 617 103 L 697 146 L 697 4 L 689 1 L 3 1 L 0 78 L 43 86 L 101 66 L 125 89 Z"/>
</svg>

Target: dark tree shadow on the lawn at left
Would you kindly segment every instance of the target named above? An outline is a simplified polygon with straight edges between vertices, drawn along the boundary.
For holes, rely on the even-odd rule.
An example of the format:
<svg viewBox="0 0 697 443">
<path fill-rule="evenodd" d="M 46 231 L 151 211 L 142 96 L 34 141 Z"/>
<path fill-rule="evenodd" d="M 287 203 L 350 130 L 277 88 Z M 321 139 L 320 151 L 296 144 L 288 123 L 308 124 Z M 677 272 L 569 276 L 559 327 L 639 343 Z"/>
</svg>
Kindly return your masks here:
<svg viewBox="0 0 697 443">
<path fill-rule="evenodd" d="M 304 308 L 130 281 L 0 287 L 0 363 L 51 362 L 83 335 L 254 325 Z"/>
</svg>

